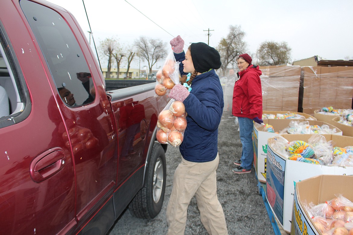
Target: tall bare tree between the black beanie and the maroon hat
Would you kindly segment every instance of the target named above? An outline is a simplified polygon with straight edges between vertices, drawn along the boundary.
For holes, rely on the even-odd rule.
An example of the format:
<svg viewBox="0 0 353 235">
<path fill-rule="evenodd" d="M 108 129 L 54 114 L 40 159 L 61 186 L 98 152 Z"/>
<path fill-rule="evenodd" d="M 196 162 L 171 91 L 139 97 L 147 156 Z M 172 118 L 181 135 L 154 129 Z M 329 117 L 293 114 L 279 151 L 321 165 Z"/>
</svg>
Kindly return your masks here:
<svg viewBox="0 0 353 235">
<path fill-rule="evenodd" d="M 217 50 L 221 56 L 221 70 L 225 76 L 227 67 L 231 64 L 235 67 L 237 56 L 245 53 L 247 44 L 244 42 L 245 33 L 238 25 L 230 25 L 229 33 L 226 38 L 222 38 L 218 44 Z"/>
</svg>

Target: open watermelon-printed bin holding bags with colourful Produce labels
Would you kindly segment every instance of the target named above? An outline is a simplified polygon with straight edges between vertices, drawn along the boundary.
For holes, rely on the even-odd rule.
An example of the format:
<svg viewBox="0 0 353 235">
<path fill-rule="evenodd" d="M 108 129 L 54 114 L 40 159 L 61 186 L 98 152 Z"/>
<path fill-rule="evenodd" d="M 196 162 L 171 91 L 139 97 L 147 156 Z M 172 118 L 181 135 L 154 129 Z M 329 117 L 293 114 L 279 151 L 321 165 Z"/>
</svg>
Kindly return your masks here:
<svg viewBox="0 0 353 235">
<path fill-rule="evenodd" d="M 296 183 L 317 175 L 353 175 L 353 155 L 351 154 L 349 154 L 351 158 L 347 158 L 351 165 L 339 166 L 339 164 L 336 164 L 338 161 L 335 162 L 335 159 L 330 165 L 313 164 L 316 156 L 329 156 L 329 154 L 325 155 L 326 153 L 324 152 L 313 150 L 320 149 L 318 147 L 321 144 L 304 144 L 311 143 L 310 140 L 319 137 L 325 137 L 327 144 L 332 144 L 332 148 L 329 149 L 331 153 L 334 153 L 337 147 L 340 147 L 340 151 L 343 153 L 343 148 L 347 147 L 346 149 L 348 149 L 349 146 L 353 146 L 353 137 L 340 135 L 283 134 L 268 139 L 266 198 L 283 230 L 288 233 L 291 230 L 294 186 Z M 286 144 L 279 144 L 281 141 L 283 143 L 286 142 Z M 314 148 L 314 146 L 317 148 Z M 303 157 L 305 161 L 298 161 L 299 158 L 298 160 L 289 160 L 288 150 L 298 151 L 303 156 L 305 154 L 306 157 Z M 349 152 L 352 151 L 352 149 L 349 150 Z M 348 153 L 348 150 L 346 152 Z M 332 154 L 331 156 L 340 156 L 339 152 L 335 153 L 338 155 Z M 342 156 L 346 156 L 346 154 L 342 154 Z M 339 160 L 338 157 L 337 160 Z M 332 165 L 334 162 L 335 165 Z"/>
</svg>

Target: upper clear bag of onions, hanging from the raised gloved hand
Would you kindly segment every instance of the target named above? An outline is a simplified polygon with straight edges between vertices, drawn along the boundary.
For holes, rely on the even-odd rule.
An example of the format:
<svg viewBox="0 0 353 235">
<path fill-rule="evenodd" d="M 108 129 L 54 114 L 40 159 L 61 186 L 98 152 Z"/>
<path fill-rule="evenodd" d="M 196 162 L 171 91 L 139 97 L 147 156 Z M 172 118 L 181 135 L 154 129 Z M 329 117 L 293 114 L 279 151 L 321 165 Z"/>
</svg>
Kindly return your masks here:
<svg viewBox="0 0 353 235">
<path fill-rule="evenodd" d="M 164 64 L 156 74 L 155 92 L 162 96 L 180 81 L 179 61 L 175 60 L 173 51 L 170 51 Z"/>
</svg>

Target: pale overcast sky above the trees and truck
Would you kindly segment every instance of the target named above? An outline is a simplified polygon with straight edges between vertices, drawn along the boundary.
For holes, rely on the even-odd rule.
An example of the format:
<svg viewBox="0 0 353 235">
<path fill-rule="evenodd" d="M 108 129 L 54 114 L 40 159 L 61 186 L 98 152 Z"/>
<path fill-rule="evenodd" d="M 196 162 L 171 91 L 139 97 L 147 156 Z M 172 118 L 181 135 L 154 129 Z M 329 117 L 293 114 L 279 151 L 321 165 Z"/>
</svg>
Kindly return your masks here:
<svg viewBox="0 0 353 235">
<path fill-rule="evenodd" d="M 49 2 L 66 8 L 89 31 L 82 0 Z M 264 41 L 284 41 L 292 48 L 292 61 L 315 55 L 353 59 L 353 0 L 84 0 L 84 4 L 96 45 L 108 37 L 132 45 L 140 36 L 169 45 L 180 35 L 186 50 L 192 42 L 208 43 L 205 30 L 210 29 L 214 31 L 209 44 L 217 47 L 229 25 L 240 25 L 252 55 Z"/>
</svg>

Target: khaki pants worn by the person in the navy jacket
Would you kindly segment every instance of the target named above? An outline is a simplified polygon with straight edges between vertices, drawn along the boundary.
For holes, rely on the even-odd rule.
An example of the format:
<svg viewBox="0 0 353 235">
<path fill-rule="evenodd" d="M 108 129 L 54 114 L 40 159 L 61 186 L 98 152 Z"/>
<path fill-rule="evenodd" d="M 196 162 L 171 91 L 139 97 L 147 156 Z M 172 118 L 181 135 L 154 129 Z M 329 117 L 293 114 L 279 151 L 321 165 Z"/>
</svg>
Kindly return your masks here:
<svg viewBox="0 0 353 235">
<path fill-rule="evenodd" d="M 201 222 L 212 235 L 228 234 L 222 205 L 217 198 L 216 169 L 219 155 L 210 162 L 190 162 L 182 158 L 174 173 L 167 206 L 168 235 L 184 234 L 187 208 L 195 195 Z"/>
</svg>

